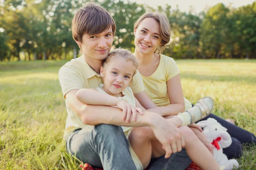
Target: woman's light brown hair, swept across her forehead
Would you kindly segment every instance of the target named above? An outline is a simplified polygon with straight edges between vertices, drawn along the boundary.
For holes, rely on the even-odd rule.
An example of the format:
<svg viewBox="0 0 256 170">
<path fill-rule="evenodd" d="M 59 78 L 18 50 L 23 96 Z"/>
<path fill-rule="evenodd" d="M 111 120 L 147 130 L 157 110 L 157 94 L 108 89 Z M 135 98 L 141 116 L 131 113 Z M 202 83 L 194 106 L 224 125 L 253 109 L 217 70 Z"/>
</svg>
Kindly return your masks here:
<svg viewBox="0 0 256 170">
<path fill-rule="evenodd" d="M 142 20 L 145 18 L 153 18 L 160 25 L 160 37 L 162 38 L 160 46 L 155 51 L 156 53 L 162 54 L 163 50 L 167 48 L 167 44 L 171 38 L 171 26 L 169 20 L 165 14 L 158 12 L 146 12 L 143 14 L 134 24 L 134 31 L 139 27 Z"/>
</svg>

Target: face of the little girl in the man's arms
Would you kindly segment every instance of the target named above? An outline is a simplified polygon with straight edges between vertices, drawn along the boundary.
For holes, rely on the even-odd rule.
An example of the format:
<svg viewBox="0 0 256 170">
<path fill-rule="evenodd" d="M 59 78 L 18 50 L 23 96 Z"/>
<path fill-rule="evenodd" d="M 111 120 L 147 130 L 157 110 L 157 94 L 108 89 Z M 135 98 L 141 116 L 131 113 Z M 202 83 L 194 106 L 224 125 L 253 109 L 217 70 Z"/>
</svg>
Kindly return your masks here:
<svg viewBox="0 0 256 170">
<path fill-rule="evenodd" d="M 122 57 L 111 59 L 106 68 L 100 69 L 104 81 L 103 90 L 112 96 L 119 96 L 119 93 L 124 91 L 131 82 L 134 69 L 132 61 Z"/>
</svg>

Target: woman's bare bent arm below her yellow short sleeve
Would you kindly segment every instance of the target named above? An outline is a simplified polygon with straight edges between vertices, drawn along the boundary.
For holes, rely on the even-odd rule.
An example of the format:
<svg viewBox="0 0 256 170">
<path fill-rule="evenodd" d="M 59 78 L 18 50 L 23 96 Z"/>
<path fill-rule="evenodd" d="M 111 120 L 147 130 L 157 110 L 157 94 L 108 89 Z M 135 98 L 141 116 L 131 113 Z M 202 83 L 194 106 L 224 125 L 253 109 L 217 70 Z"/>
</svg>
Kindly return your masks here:
<svg viewBox="0 0 256 170">
<path fill-rule="evenodd" d="M 170 116 L 182 113 L 185 110 L 185 102 L 179 74 L 167 81 L 167 91 L 170 105 L 151 108 L 147 111 L 158 113 L 161 116 Z"/>
</svg>

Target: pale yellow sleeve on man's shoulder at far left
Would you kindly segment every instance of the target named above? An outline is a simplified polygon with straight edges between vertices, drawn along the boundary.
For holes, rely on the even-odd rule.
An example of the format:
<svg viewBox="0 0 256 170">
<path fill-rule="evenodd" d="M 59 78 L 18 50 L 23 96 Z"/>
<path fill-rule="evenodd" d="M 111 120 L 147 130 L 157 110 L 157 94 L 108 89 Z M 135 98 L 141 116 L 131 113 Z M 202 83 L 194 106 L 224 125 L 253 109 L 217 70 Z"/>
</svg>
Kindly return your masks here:
<svg viewBox="0 0 256 170">
<path fill-rule="evenodd" d="M 60 68 L 58 72 L 58 78 L 61 84 L 61 91 L 64 97 L 67 94 L 67 92 L 71 90 L 83 88 L 83 83 L 79 78 L 78 73 L 65 65 Z"/>
</svg>

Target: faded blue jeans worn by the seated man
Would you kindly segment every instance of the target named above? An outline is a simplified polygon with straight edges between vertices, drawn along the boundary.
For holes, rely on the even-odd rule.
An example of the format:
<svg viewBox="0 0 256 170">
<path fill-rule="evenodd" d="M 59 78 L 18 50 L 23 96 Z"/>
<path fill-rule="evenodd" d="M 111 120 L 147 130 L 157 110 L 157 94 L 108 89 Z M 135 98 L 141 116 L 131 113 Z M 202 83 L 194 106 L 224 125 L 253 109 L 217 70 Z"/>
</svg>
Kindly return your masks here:
<svg viewBox="0 0 256 170">
<path fill-rule="evenodd" d="M 84 163 L 104 170 L 136 170 L 122 127 L 101 124 L 93 130 L 75 130 L 66 141 L 67 152 Z M 185 170 L 191 159 L 182 150 L 169 159 L 164 156 L 151 162 L 149 170 Z"/>
</svg>

